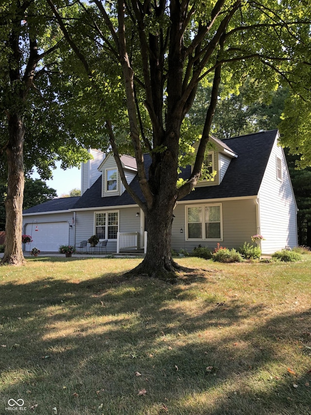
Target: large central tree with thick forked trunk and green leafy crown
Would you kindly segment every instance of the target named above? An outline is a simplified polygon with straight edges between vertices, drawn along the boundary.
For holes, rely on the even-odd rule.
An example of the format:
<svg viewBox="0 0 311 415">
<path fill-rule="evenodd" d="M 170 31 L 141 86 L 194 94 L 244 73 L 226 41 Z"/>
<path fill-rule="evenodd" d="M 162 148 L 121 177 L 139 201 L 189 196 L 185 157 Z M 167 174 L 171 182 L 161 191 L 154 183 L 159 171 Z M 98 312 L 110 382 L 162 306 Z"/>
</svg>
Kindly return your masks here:
<svg viewBox="0 0 311 415">
<path fill-rule="evenodd" d="M 310 6 L 297 0 L 94 0 L 81 6 L 83 18 L 73 23 L 67 18 L 70 3 L 60 10 L 47 1 L 90 88 L 103 92 L 121 180 L 145 213 L 148 248 L 137 271 L 170 271 L 173 209 L 200 180 L 219 94 L 237 91 L 250 77 L 256 97 L 278 85 L 291 88 L 300 76 L 298 65 L 308 72 L 301 52 L 310 45 Z M 201 130 L 189 116 L 200 83 L 210 86 Z M 117 142 L 121 126 L 129 132 L 143 198 L 125 180 Z M 195 140 L 190 177 L 177 187 L 178 166 L 189 162 L 184 155 Z M 152 157 L 148 176 L 144 149 Z"/>
</svg>

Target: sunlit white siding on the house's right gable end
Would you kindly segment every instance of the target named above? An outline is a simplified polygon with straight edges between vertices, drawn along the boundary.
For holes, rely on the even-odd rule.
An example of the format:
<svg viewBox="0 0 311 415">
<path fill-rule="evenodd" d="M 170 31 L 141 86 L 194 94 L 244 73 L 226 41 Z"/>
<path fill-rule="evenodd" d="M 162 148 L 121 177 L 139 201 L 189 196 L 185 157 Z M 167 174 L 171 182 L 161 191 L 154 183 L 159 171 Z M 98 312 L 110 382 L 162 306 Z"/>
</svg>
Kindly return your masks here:
<svg viewBox="0 0 311 415">
<path fill-rule="evenodd" d="M 282 161 L 282 180 L 276 178 L 276 157 Z M 258 232 L 262 253 L 297 245 L 296 204 L 284 151 L 275 143 L 259 189 Z"/>
</svg>

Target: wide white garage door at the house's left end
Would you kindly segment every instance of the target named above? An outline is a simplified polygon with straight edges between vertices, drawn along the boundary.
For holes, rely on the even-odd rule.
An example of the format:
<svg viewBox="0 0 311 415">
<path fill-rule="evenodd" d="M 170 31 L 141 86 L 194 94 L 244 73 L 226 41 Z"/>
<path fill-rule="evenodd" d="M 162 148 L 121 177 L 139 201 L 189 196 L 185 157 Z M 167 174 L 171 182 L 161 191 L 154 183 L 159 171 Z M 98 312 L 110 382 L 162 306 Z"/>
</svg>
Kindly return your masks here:
<svg viewBox="0 0 311 415">
<path fill-rule="evenodd" d="M 40 251 L 58 252 L 59 245 L 68 245 L 68 222 L 29 223 L 26 235 L 32 235 L 33 242 L 25 245 L 26 251 L 34 247 Z"/>
</svg>

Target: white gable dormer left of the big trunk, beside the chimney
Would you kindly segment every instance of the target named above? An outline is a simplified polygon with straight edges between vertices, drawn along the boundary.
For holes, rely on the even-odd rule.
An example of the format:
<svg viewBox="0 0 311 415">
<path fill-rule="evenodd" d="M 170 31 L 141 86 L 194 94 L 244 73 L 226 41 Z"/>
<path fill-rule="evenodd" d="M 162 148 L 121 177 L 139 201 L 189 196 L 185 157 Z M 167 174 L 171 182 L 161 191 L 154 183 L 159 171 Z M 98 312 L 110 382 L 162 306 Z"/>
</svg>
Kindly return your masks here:
<svg viewBox="0 0 311 415">
<path fill-rule="evenodd" d="M 130 183 L 137 174 L 136 160 L 134 157 L 126 155 L 121 155 L 120 160 L 126 181 Z M 98 170 L 102 173 L 102 197 L 120 196 L 125 188 L 121 182 L 117 163 L 112 153 L 107 155 Z"/>
</svg>

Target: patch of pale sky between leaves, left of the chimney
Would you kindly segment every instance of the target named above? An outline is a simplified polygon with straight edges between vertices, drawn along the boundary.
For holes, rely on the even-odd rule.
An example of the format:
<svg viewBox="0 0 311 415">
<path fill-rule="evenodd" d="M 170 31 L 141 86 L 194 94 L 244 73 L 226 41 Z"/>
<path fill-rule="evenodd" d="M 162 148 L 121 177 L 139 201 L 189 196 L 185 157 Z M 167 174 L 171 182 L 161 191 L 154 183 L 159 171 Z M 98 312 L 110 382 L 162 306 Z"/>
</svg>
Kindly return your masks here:
<svg viewBox="0 0 311 415">
<path fill-rule="evenodd" d="M 72 189 L 81 189 L 81 169 L 73 167 L 71 169 L 62 170 L 60 168 L 60 162 L 56 163 L 57 169 L 53 170 L 53 179 L 46 180 L 49 187 L 56 190 L 57 196 L 62 194 L 69 194 Z M 39 179 L 39 175 L 35 172 L 33 179 Z"/>
</svg>

